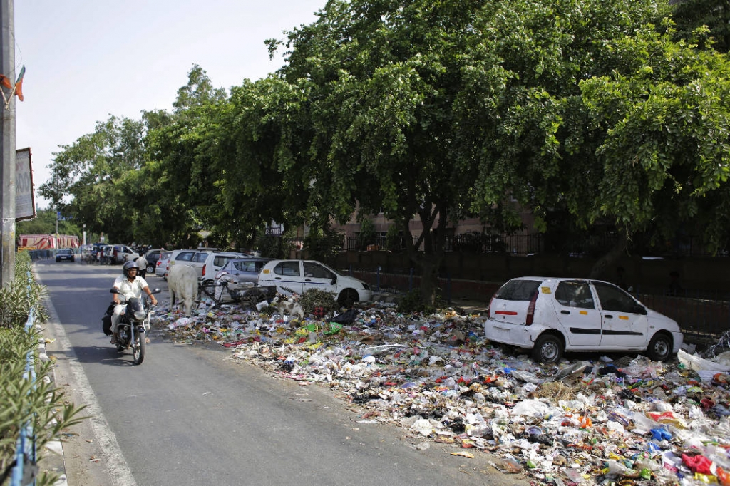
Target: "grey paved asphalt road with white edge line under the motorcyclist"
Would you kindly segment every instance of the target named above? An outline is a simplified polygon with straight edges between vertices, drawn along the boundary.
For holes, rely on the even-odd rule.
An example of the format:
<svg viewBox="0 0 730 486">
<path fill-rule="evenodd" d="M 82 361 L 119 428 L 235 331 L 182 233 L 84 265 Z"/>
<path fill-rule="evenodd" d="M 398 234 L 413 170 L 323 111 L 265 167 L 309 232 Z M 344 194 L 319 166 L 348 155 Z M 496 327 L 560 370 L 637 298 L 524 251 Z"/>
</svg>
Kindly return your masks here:
<svg viewBox="0 0 730 486">
<path fill-rule="evenodd" d="M 50 296 L 58 385 L 90 416 L 64 445 L 71 486 L 526 485 L 483 453 L 461 458 L 401 428 L 358 423 L 331 390 L 275 379 L 213 344 L 153 332 L 134 366 L 101 332 L 119 266 L 34 267 Z"/>
</svg>

